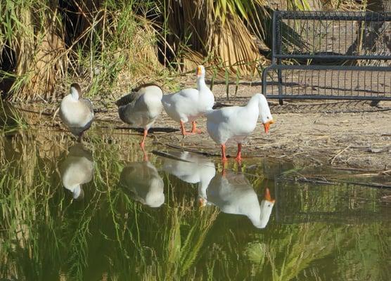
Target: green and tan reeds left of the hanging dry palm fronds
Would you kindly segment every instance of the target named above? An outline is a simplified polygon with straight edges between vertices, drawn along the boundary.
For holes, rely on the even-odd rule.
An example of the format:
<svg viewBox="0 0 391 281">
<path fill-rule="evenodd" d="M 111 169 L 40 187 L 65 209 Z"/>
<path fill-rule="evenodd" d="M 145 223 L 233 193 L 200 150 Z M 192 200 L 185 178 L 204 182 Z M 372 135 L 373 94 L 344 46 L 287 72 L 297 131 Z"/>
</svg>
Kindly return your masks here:
<svg viewBox="0 0 391 281">
<path fill-rule="evenodd" d="M 74 80 L 104 96 L 124 76 L 131 84 L 158 76 L 156 30 L 146 18 L 153 2 L 1 1 L 3 98 L 55 99 Z"/>
</svg>

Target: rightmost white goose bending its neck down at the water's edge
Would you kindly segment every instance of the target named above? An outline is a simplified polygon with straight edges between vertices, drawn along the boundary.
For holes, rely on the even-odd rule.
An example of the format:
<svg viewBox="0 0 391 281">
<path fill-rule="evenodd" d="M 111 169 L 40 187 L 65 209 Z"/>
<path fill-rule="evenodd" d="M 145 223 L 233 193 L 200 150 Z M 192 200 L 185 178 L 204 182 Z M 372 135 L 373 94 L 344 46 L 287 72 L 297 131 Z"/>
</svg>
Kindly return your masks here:
<svg viewBox="0 0 391 281">
<path fill-rule="evenodd" d="M 233 139 L 238 143 L 236 160 L 240 161 L 242 143 L 257 125 L 260 118 L 264 125 L 265 133 L 269 132 L 270 124 L 273 124 L 269 105 L 261 93 L 256 93 L 245 106 L 224 107 L 218 110 L 210 110 L 205 114 L 207 118 L 207 132 L 212 140 L 222 146 L 222 159 L 226 161 L 226 141 Z"/>
</svg>

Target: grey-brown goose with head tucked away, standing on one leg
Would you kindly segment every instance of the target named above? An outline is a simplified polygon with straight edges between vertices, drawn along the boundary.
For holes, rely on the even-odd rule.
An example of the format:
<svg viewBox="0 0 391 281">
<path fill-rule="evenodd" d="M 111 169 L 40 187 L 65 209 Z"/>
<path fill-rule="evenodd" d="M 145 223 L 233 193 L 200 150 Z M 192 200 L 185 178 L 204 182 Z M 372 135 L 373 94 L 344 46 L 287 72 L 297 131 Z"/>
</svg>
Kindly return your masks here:
<svg viewBox="0 0 391 281">
<path fill-rule="evenodd" d="M 162 96 L 163 91 L 160 86 L 143 84 L 115 103 L 118 106 L 118 115 L 120 115 L 123 122 L 143 127 L 144 134 L 140 143 L 141 148 L 144 148 L 150 126 L 160 115 Z"/>
</svg>

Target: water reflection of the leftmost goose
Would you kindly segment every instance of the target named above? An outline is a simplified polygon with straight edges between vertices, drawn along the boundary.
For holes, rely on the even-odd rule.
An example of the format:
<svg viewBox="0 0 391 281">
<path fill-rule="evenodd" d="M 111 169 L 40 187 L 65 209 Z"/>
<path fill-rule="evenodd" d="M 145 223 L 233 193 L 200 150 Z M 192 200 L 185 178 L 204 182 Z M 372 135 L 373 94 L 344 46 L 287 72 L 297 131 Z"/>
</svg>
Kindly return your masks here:
<svg viewBox="0 0 391 281">
<path fill-rule="evenodd" d="M 72 192 L 74 199 L 83 199 L 82 184 L 89 183 L 94 175 L 92 153 L 81 143 L 73 145 L 67 157 L 60 164 L 61 181 L 64 188 Z"/>
</svg>

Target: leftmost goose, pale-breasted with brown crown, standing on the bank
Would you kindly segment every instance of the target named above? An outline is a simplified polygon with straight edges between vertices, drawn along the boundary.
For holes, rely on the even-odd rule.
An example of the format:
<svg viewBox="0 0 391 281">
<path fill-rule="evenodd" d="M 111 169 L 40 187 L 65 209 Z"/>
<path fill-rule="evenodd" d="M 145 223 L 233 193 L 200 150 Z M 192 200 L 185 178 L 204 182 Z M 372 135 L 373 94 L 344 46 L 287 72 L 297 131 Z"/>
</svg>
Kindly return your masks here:
<svg viewBox="0 0 391 281">
<path fill-rule="evenodd" d="M 81 142 L 84 131 L 88 130 L 94 119 L 94 108 L 91 100 L 82 98 L 79 84 L 70 85 L 70 94 L 61 100 L 60 118 L 68 129 Z"/>
</svg>

